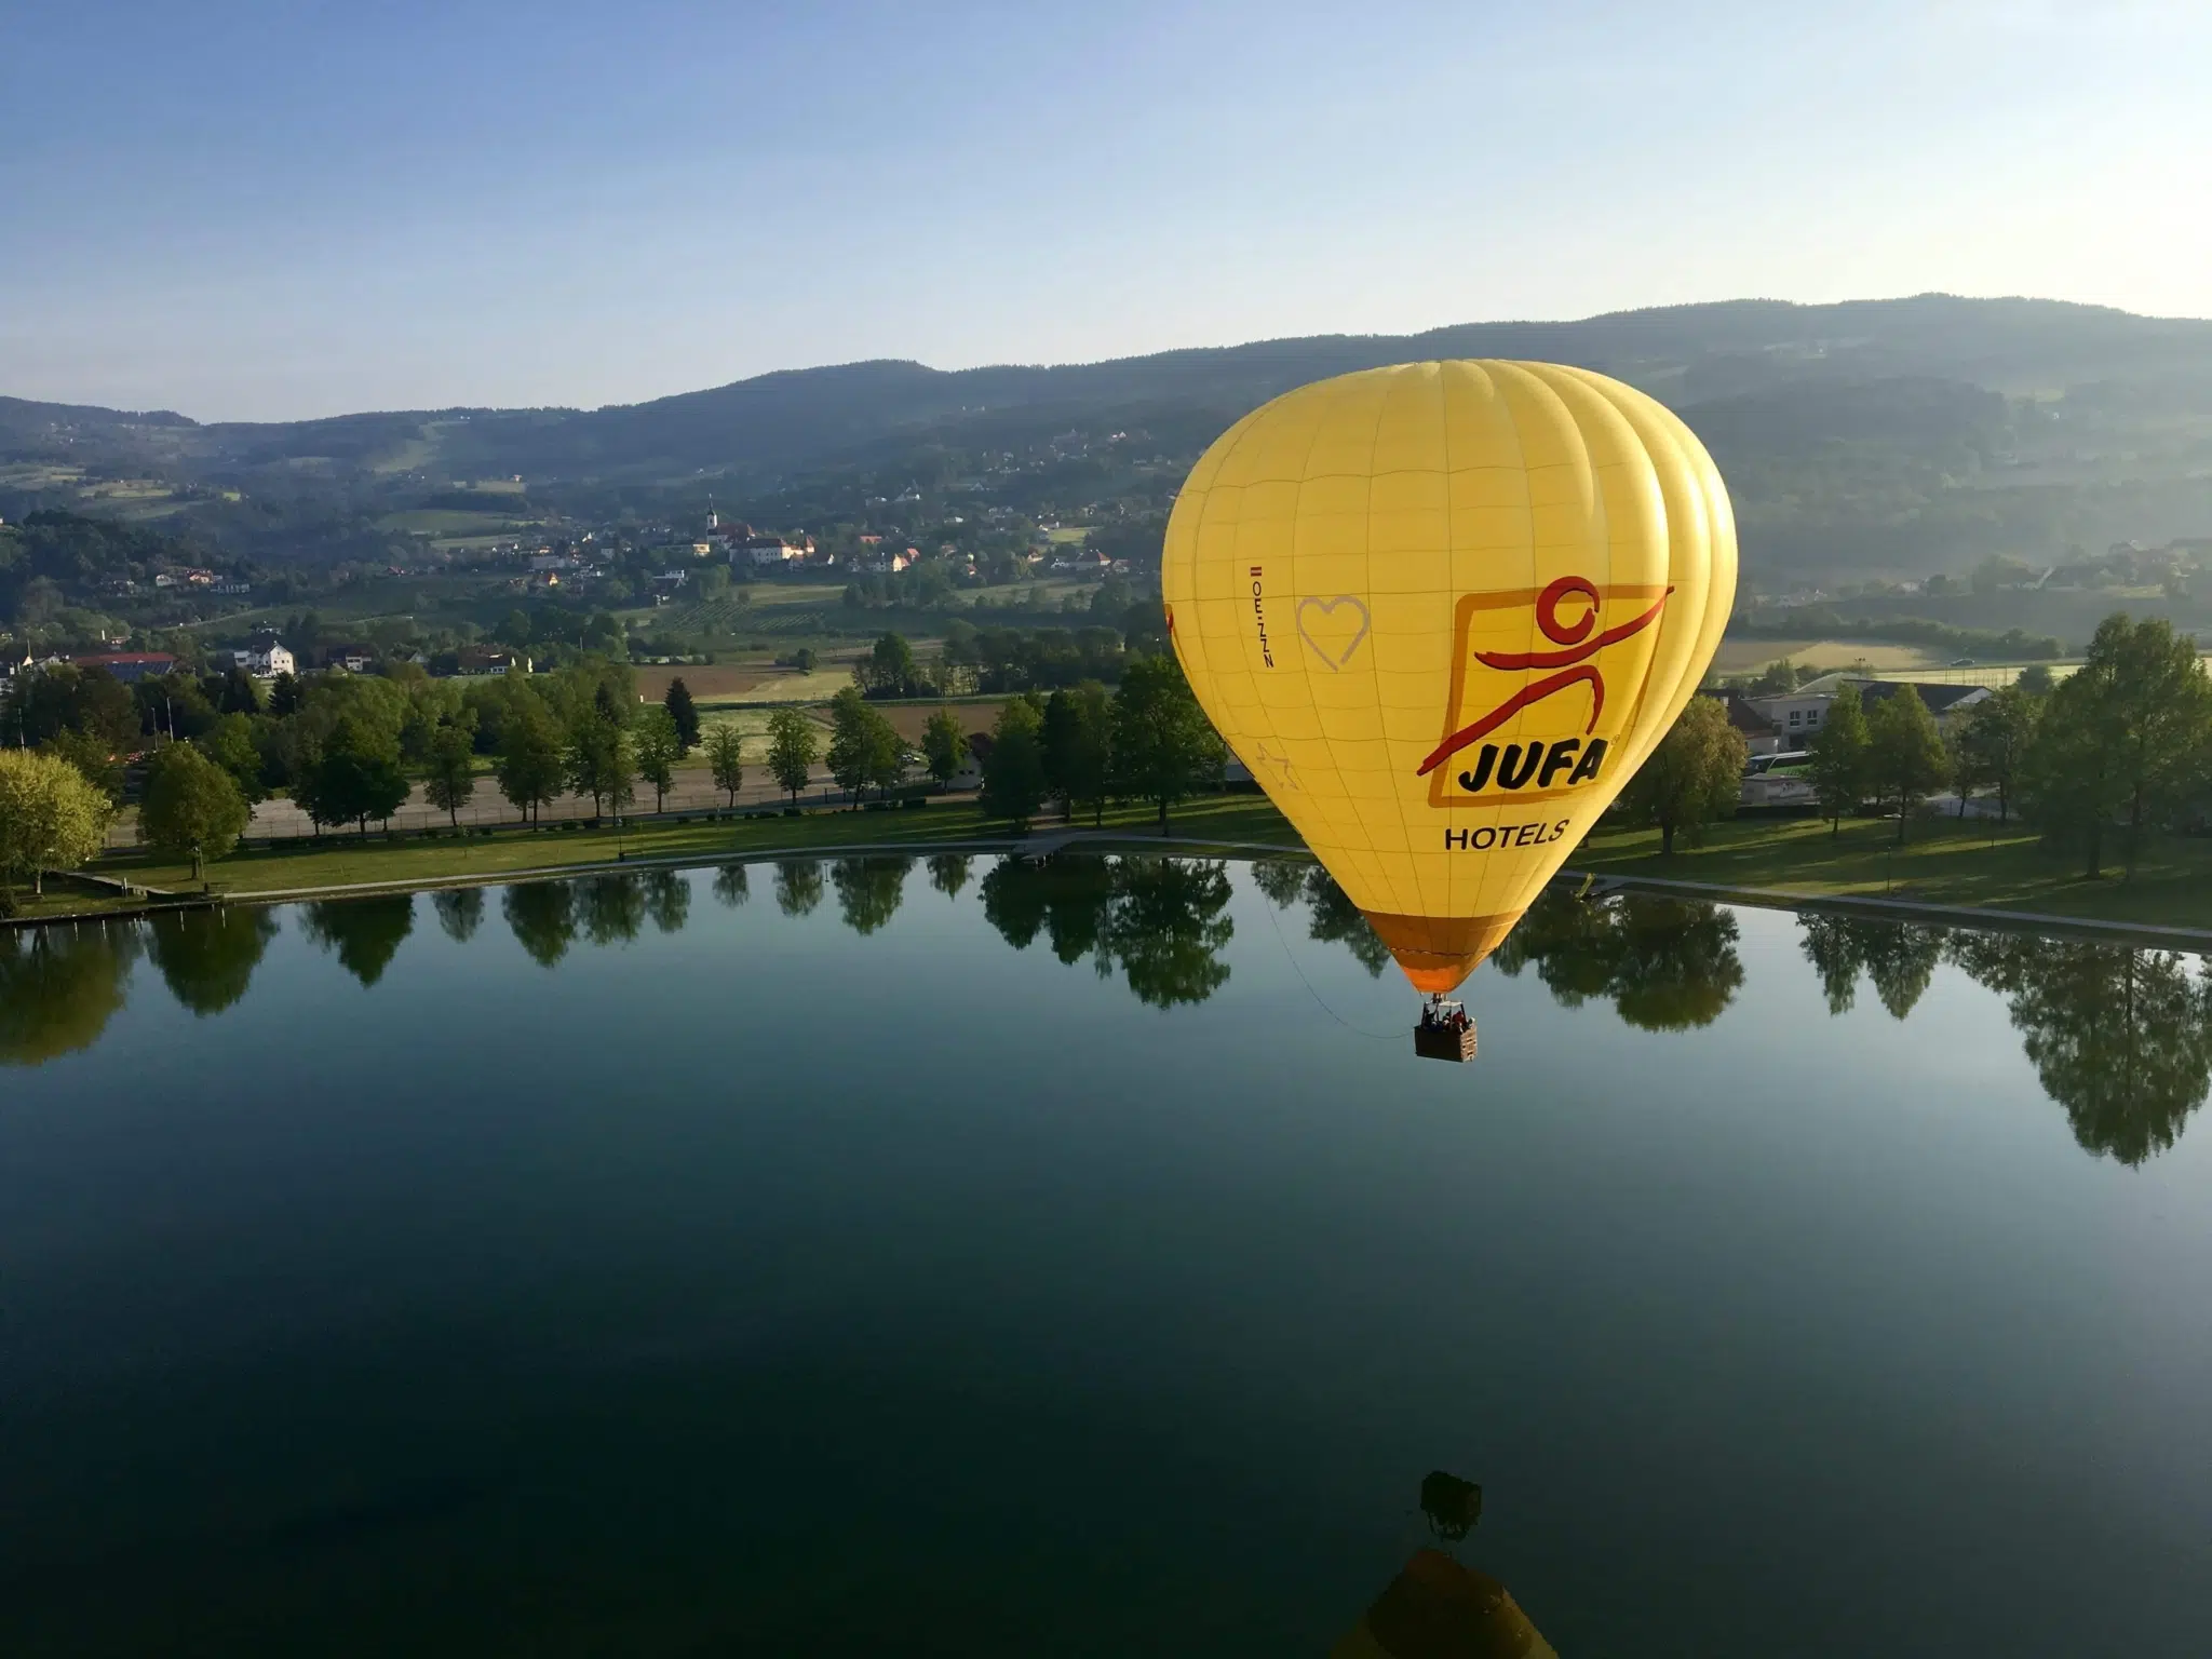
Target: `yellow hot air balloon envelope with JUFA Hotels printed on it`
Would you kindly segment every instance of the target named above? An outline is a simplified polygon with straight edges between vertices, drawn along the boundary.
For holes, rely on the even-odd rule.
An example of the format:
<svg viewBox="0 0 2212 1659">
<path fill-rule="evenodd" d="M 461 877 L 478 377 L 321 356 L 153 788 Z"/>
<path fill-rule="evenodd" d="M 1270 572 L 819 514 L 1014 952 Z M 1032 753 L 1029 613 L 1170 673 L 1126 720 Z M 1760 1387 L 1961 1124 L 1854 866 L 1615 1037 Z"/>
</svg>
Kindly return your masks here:
<svg viewBox="0 0 2212 1659">
<path fill-rule="evenodd" d="M 1164 566 L 1199 703 L 1431 995 L 1674 723 L 1734 593 L 1703 445 L 1553 363 L 1405 363 L 1254 409 L 1192 467 Z"/>
</svg>

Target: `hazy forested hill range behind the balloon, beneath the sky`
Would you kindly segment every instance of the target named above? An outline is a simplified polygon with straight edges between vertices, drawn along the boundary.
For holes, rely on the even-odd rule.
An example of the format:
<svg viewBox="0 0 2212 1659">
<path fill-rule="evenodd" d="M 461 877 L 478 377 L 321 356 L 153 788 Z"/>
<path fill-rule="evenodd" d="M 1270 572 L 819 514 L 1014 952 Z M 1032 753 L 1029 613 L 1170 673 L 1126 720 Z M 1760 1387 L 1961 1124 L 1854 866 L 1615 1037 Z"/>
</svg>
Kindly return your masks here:
<svg viewBox="0 0 2212 1659">
<path fill-rule="evenodd" d="M 257 555 L 312 551 L 314 524 L 358 538 L 469 480 L 513 489 L 518 476 L 531 502 L 571 513 L 681 513 L 712 489 L 796 524 L 854 518 L 909 476 L 929 493 L 993 476 L 1022 511 L 1119 502 L 1148 513 L 1221 427 L 1276 392 L 1440 356 L 1577 363 L 1679 409 L 1728 473 L 1747 568 L 1774 584 L 2212 535 L 2212 323 L 1940 294 L 1730 301 L 1057 367 L 847 363 L 593 411 L 195 425 L 0 398 L 0 513 L 100 511 L 77 491 L 148 478 L 210 538 Z M 1119 434 L 1128 445 L 1108 453 Z"/>
</svg>

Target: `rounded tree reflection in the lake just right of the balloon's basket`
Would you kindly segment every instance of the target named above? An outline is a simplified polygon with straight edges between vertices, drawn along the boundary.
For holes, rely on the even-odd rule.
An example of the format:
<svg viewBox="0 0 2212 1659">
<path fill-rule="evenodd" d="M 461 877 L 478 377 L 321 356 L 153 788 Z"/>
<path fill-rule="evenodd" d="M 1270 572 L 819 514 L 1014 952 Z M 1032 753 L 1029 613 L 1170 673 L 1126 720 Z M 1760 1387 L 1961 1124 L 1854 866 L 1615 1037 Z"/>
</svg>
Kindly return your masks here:
<svg viewBox="0 0 2212 1659">
<path fill-rule="evenodd" d="M 1546 889 L 1491 956 L 1506 978 L 1535 967 L 1568 1009 L 1610 1000 L 1641 1031 L 1710 1026 L 1743 987 L 1736 918 L 1694 898 Z"/>
</svg>

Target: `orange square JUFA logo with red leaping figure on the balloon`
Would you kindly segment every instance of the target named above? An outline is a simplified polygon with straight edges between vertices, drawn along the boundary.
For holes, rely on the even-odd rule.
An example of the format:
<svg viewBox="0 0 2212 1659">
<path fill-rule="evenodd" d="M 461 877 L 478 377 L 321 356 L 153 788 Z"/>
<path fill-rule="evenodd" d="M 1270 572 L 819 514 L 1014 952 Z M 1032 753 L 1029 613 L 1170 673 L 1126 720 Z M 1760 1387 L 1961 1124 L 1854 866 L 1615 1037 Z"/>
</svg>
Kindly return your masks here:
<svg viewBox="0 0 2212 1659">
<path fill-rule="evenodd" d="M 1644 635 L 1659 622 L 1670 593 L 1663 586 L 1599 588 L 1588 577 L 1562 575 L 1535 593 L 1462 597 L 1444 739 L 1418 768 L 1418 776 L 1429 779 L 1429 803 L 1537 801 L 1595 783 L 1613 745 L 1597 728 L 1608 701 L 1613 719 L 1604 723 L 1613 737 L 1635 714 L 1652 659 L 1652 641 Z M 1533 608 L 1551 648 L 1522 648 L 1528 617 L 1522 606 Z M 1617 619 L 1599 626 L 1608 611 Z M 1480 712 L 1469 719 L 1469 710 Z M 1537 714 L 1520 721 L 1520 741 L 1484 741 L 1528 710 Z"/>
</svg>

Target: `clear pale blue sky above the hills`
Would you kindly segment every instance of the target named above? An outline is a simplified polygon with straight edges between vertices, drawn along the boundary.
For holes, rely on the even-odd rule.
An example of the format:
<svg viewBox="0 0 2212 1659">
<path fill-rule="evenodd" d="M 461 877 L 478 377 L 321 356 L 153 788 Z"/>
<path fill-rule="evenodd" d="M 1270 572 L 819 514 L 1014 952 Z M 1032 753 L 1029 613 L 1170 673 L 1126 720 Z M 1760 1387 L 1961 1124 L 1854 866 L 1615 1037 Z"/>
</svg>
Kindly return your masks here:
<svg viewBox="0 0 2212 1659">
<path fill-rule="evenodd" d="M 599 405 L 1763 294 L 2212 314 L 2212 7 L 18 4 L 0 394 Z"/>
</svg>

